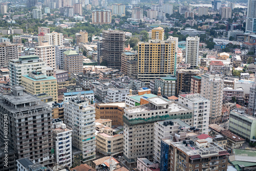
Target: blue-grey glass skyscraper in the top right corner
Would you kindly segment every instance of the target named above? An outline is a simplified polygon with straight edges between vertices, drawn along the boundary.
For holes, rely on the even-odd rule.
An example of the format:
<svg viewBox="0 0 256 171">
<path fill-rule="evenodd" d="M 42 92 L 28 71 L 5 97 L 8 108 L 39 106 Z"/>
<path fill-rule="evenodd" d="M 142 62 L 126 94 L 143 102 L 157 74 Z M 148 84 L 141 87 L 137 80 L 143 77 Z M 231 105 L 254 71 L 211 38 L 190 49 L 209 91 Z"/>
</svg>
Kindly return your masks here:
<svg viewBox="0 0 256 171">
<path fill-rule="evenodd" d="M 245 32 L 256 32 L 256 3 L 255 0 L 248 1 Z"/>
</svg>

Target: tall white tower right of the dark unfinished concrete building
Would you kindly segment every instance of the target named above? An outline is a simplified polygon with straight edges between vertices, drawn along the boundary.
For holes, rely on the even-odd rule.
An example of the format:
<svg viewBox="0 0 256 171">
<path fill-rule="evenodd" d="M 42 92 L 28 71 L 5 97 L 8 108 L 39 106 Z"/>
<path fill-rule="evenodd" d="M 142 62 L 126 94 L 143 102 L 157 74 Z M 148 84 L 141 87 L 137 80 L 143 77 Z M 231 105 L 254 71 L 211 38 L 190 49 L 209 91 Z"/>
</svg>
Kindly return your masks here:
<svg viewBox="0 0 256 171">
<path fill-rule="evenodd" d="M 64 102 L 65 123 L 72 129 L 72 145 L 82 151 L 82 162 L 95 158 L 95 108 L 88 98 L 74 98 Z"/>
</svg>

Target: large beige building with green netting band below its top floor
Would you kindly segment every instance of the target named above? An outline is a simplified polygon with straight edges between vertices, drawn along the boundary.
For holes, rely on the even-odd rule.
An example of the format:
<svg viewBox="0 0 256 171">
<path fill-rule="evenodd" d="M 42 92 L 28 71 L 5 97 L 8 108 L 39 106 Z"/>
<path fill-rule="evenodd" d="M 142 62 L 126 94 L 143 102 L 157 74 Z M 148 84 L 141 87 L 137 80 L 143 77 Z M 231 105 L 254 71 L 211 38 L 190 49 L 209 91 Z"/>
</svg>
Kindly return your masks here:
<svg viewBox="0 0 256 171">
<path fill-rule="evenodd" d="M 123 157 L 130 166 L 137 163 L 137 157 L 154 159 L 154 122 L 181 119 L 190 125 L 192 121 L 193 110 L 175 101 L 161 97 L 147 98 L 147 101 L 124 110 Z"/>
</svg>

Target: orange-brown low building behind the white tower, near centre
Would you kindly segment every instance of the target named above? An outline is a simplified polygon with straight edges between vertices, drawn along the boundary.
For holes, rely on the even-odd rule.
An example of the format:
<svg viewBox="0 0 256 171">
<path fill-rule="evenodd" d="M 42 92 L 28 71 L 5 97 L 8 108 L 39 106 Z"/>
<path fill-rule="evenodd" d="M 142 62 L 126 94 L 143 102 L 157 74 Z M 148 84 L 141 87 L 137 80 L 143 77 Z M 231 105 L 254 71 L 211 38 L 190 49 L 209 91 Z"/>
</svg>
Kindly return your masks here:
<svg viewBox="0 0 256 171">
<path fill-rule="evenodd" d="M 112 125 L 123 125 L 125 102 L 95 103 L 95 119 L 111 119 Z"/>
</svg>

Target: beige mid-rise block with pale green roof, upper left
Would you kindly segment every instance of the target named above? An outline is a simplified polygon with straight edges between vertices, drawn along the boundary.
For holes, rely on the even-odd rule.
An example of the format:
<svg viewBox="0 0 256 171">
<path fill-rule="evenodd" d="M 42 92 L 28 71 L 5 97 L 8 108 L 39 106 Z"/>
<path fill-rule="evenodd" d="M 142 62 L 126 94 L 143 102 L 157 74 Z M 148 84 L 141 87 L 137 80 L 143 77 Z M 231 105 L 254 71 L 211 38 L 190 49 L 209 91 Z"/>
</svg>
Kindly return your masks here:
<svg viewBox="0 0 256 171">
<path fill-rule="evenodd" d="M 63 52 L 64 56 L 64 66 L 63 69 L 68 71 L 69 74 L 78 74 L 82 73 L 83 69 L 83 58 L 82 54 L 77 53 L 76 51 L 65 51 Z"/>
</svg>

